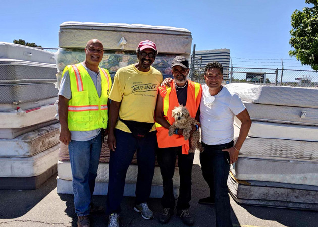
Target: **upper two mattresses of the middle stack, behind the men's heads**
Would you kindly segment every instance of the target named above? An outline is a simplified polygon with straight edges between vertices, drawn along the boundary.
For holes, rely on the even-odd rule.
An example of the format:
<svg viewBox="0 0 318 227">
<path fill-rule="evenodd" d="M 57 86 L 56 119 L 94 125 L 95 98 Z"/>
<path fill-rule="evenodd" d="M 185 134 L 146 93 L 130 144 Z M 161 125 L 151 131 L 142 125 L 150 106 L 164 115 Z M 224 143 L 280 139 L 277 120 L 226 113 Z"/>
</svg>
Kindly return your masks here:
<svg viewBox="0 0 318 227">
<path fill-rule="evenodd" d="M 163 76 L 171 76 L 171 62 L 177 55 L 189 58 L 191 32 L 184 28 L 142 24 L 64 22 L 60 25 L 59 47 L 56 53 L 58 81 L 66 65 L 84 61 L 84 48 L 90 39 L 99 39 L 104 46 L 100 67 L 109 70 L 111 77 L 124 66 L 137 62 L 136 48 L 140 41 L 151 40 L 158 49 L 153 67 Z"/>
</svg>

